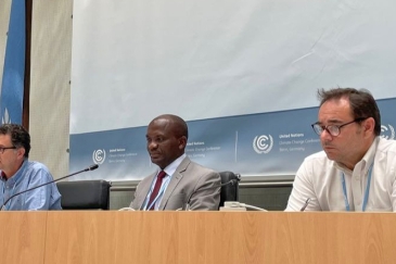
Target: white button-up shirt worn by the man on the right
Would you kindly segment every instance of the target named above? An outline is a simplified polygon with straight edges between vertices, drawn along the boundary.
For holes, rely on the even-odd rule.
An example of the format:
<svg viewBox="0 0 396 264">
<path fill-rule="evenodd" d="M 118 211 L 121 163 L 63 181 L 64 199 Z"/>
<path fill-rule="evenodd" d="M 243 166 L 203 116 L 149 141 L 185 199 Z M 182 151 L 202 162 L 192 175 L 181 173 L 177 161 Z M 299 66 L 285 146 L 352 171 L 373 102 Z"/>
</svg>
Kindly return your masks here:
<svg viewBox="0 0 396 264">
<path fill-rule="evenodd" d="M 371 180 L 366 211 L 396 211 L 396 141 L 376 137 L 354 171 L 327 158 L 324 151 L 306 158 L 297 171 L 285 211 L 362 211 L 370 166 Z M 346 199 L 342 178 L 345 178 Z"/>
</svg>

